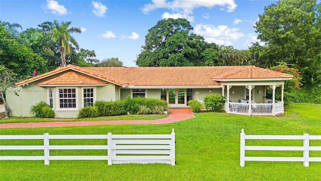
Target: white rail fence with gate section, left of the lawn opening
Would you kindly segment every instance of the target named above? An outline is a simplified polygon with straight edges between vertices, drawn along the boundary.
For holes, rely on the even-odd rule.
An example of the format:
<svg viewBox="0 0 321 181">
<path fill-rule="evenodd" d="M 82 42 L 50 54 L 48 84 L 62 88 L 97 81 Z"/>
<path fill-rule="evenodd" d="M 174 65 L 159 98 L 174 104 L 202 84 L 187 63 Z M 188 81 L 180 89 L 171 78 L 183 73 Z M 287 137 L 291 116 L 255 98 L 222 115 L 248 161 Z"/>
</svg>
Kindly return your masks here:
<svg viewBox="0 0 321 181">
<path fill-rule="evenodd" d="M 44 150 L 39 156 L 0 156 L 0 160 L 107 160 L 119 163 L 175 165 L 175 133 L 140 135 L 0 135 L 0 140 L 42 139 L 44 145 L 0 145 L 0 150 Z M 50 145 L 55 139 L 107 139 L 107 145 Z M 106 150 L 105 156 L 51 156 L 50 150 Z"/>
</svg>

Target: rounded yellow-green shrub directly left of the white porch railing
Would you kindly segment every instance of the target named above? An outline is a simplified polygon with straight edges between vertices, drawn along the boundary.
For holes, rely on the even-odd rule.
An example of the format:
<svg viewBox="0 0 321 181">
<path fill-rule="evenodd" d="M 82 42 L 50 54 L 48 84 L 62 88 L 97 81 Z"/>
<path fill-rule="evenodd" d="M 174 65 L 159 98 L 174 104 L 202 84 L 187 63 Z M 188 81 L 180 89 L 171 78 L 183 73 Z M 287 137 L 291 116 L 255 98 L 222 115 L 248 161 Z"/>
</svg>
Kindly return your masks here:
<svg viewBox="0 0 321 181">
<path fill-rule="evenodd" d="M 204 106 L 206 110 L 212 108 L 215 112 L 223 112 L 225 97 L 219 94 L 209 94 L 204 96 Z"/>
</svg>

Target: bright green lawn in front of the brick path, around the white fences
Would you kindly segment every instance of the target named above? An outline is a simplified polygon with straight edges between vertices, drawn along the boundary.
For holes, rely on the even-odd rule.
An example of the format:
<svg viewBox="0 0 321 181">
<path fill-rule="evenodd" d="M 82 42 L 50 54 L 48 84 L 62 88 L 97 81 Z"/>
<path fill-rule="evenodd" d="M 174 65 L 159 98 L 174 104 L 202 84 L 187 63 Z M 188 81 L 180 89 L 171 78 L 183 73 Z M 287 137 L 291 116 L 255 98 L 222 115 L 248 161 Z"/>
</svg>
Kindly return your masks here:
<svg viewBox="0 0 321 181">
<path fill-rule="evenodd" d="M 297 113 L 297 115 L 295 114 Z M 103 125 L 58 128 L 0 129 L 7 134 L 171 134 L 176 133 L 176 165 L 114 164 L 96 160 L 0 161 L 0 180 L 321 180 L 321 162 L 252 162 L 239 165 L 240 132 L 263 135 L 321 135 L 321 105 L 293 104 L 284 117 L 240 116 L 225 113 L 198 113 L 186 121 L 162 125 Z M 69 141 L 70 142 L 70 141 Z M 70 144 L 86 144 L 73 140 Z M 97 140 L 97 143 L 106 142 Z M 16 144 L 16 140 L 2 144 Z M 258 144 L 259 142 L 251 142 Z M 41 143 L 35 143 L 41 144 Z M 277 141 L 268 144 L 296 145 Z M 311 142 L 321 146 L 321 141 Z M 52 154 L 59 154 L 51 152 Z M 61 154 L 105 154 L 104 151 L 71 151 Z M 9 154 L 0 152 L 1 155 Z M 10 154 L 22 154 L 10 151 Z M 30 151 L 30 154 L 36 154 Z M 257 155 L 246 152 L 246 155 Z M 268 156 L 302 156 L 302 152 L 262 152 Z M 290 155 L 291 154 L 291 155 Z M 311 152 L 321 157 L 321 152 Z"/>
</svg>

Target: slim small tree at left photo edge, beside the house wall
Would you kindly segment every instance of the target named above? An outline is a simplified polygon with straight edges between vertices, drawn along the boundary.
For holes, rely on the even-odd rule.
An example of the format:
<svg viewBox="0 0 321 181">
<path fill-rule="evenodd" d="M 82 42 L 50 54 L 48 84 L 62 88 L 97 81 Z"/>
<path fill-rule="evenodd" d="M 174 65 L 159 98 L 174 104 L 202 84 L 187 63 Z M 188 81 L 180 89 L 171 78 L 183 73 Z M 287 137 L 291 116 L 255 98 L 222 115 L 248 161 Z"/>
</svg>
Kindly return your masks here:
<svg viewBox="0 0 321 181">
<path fill-rule="evenodd" d="M 13 91 L 12 87 L 15 85 L 15 75 L 17 74 L 6 68 L 4 65 L 0 65 L 0 99 L 5 105 L 5 118 L 8 118 L 10 113 L 10 108 L 5 99 L 5 94 L 9 88 Z"/>
</svg>

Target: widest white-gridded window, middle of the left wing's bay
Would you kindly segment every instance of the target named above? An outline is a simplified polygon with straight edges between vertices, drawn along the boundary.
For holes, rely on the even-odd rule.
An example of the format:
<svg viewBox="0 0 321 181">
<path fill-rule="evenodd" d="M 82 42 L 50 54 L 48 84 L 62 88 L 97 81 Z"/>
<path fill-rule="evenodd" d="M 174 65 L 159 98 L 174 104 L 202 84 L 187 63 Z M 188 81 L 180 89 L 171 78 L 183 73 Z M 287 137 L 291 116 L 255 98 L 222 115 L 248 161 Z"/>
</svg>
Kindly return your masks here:
<svg viewBox="0 0 321 181">
<path fill-rule="evenodd" d="M 59 108 L 76 109 L 76 88 L 59 88 Z"/>
</svg>

